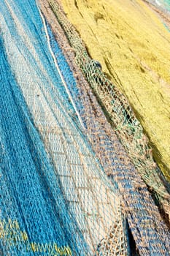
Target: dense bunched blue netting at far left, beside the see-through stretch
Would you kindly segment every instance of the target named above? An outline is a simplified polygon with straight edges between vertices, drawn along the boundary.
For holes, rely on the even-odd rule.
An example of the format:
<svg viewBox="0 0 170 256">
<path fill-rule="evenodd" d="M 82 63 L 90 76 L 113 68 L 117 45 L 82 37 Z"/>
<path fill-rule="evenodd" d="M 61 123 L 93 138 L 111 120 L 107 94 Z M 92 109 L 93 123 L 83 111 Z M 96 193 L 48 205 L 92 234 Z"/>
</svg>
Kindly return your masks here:
<svg viewBox="0 0 170 256">
<path fill-rule="evenodd" d="M 0 45 L 1 255 L 80 255 L 88 245 Z"/>
</svg>

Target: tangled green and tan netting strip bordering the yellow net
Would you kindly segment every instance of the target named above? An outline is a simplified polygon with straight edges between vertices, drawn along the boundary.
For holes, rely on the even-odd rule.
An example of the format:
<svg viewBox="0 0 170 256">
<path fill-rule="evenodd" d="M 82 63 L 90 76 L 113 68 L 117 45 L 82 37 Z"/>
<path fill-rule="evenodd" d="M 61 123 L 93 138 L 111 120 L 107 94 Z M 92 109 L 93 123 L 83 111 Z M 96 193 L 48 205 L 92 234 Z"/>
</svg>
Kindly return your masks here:
<svg viewBox="0 0 170 256">
<path fill-rule="evenodd" d="M 74 26 L 69 23 L 58 1 L 49 1 L 49 4 L 69 40 L 71 46 L 69 50 L 74 52 L 77 66 L 80 67 L 86 80 L 88 80 L 107 119 L 112 124 L 112 128 L 142 179 L 152 190 L 155 201 L 160 208 L 163 208 L 169 219 L 169 184 L 152 158 L 152 148 L 148 145 L 147 136 L 144 135 L 142 126 L 136 119 L 131 106 L 124 95 L 107 79 L 101 68 L 98 67 L 98 63 L 90 59 L 82 39 Z"/>
</svg>

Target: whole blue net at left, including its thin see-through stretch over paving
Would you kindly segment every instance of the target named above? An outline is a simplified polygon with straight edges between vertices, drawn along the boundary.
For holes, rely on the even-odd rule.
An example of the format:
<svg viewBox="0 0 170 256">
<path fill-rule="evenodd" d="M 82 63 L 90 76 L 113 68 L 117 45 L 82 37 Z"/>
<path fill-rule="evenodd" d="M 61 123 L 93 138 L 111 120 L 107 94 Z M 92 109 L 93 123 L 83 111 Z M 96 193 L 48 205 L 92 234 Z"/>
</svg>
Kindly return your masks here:
<svg viewBox="0 0 170 256">
<path fill-rule="evenodd" d="M 82 134 L 36 3 L 0 10 L 2 254 L 128 255 L 120 196 Z"/>
</svg>

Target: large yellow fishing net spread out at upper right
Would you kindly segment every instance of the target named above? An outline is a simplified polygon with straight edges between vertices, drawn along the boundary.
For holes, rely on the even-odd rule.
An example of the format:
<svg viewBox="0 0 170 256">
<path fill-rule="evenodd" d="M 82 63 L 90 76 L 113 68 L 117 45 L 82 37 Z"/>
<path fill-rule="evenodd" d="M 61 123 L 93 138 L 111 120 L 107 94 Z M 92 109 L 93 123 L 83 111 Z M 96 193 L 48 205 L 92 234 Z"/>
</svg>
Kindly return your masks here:
<svg viewBox="0 0 170 256">
<path fill-rule="evenodd" d="M 158 14 L 142 0 L 58 2 L 90 56 L 101 61 L 104 74 L 128 97 L 169 181 L 170 34 Z"/>
</svg>

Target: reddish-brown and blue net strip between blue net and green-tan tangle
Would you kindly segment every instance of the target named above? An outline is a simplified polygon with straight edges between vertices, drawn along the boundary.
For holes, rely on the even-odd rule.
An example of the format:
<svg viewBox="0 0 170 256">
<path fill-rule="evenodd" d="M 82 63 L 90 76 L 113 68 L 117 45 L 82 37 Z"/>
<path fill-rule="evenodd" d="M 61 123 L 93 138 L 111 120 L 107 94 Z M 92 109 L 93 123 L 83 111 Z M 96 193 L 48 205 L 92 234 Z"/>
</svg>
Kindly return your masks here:
<svg viewBox="0 0 170 256">
<path fill-rule="evenodd" d="M 85 133 L 88 135 L 93 150 L 96 152 L 105 172 L 110 176 L 113 184 L 117 185 L 120 195 L 123 197 L 123 203 L 125 204 L 123 208 L 125 209 L 128 224 L 135 238 L 136 247 L 139 249 L 141 255 L 168 253 L 168 240 L 163 235 L 164 230 L 167 232 L 167 229 L 163 225 L 161 217 L 158 214 L 158 209 L 154 206 L 147 187 L 140 179 L 139 174 L 136 173 L 133 165 L 131 165 L 124 148 L 121 146 L 119 140 L 117 140 L 115 132 L 107 124 L 107 120 L 90 91 L 88 84 L 82 78 L 79 69 L 74 65 L 74 54 L 68 53 L 69 45 L 58 23 L 54 23 L 53 12 L 50 12 L 43 1 L 41 9 L 45 13 L 47 20 L 51 25 L 53 24 L 55 39 L 57 39 L 57 42 L 63 49 L 62 52 L 58 48 L 58 43 L 55 42 L 52 31 L 48 27 L 47 31 L 50 37 L 51 48 L 58 61 L 58 65 L 61 67 L 69 94 L 75 102 L 75 108 L 80 114 L 81 123 L 83 123 L 86 130 Z M 69 62 L 67 69 L 62 69 L 63 53 L 65 53 L 66 59 Z M 77 83 L 73 79 L 70 68 L 77 78 Z M 163 225 L 163 230 L 160 229 L 161 225 Z M 164 236 L 163 241 L 165 244 L 167 243 L 167 249 L 162 249 L 163 246 L 160 244 L 161 234 Z M 167 234 L 169 236 L 169 232 Z"/>
</svg>

